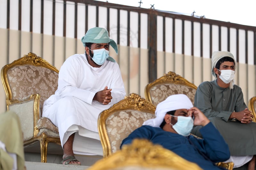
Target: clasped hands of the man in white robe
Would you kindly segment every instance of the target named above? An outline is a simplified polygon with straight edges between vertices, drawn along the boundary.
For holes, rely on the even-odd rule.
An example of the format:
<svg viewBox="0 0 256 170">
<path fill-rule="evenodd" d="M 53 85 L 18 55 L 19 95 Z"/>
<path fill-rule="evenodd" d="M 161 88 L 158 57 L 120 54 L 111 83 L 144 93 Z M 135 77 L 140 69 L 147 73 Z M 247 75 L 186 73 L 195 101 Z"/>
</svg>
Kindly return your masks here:
<svg viewBox="0 0 256 170">
<path fill-rule="evenodd" d="M 101 90 L 95 94 L 93 100 L 96 100 L 103 105 L 107 105 L 112 99 L 111 90 L 112 89 L 108 89 L 108 86 L 106 86 L 104 90 Z"/>
</svg>

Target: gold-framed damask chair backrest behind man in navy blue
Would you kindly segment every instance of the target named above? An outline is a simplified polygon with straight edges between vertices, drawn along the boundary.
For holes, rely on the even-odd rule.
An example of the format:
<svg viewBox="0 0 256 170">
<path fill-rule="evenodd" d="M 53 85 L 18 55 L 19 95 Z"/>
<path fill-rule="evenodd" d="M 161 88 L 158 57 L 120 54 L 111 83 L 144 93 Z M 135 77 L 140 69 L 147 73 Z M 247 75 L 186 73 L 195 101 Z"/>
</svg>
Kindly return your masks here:
<svg viewBox="0 0 256 170">
<path fill-rule="evenodd" d="M 156 106 L 140 95 L 131 93 L 107 110 L 100 113 L 98 131 L 106 157 L 118 150 L 120 144 L 133 130 L 143 122 L 155 118 Z"/>
</svg>

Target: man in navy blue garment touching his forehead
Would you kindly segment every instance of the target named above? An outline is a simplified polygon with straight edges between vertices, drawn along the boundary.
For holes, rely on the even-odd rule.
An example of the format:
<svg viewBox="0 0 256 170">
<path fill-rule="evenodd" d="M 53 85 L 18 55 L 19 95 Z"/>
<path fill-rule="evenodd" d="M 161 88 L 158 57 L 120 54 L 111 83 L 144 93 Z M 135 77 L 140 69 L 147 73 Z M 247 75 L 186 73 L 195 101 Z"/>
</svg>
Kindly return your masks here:
<svg viewBox="0 0 256 170">
<path fill-rule="evenodd" d="M 215 163 L 229 159 L 228 145 L 219 131 L 186 95 L 169 96 L 157 105 L 155 115 L 125 138 L 120 147 L 136 138 L 148 139 L 207 170 L 222 169 Z M 193 125 L 203 126 L 200 132 L 204 139 L 190 135 Z"/>
</svg>

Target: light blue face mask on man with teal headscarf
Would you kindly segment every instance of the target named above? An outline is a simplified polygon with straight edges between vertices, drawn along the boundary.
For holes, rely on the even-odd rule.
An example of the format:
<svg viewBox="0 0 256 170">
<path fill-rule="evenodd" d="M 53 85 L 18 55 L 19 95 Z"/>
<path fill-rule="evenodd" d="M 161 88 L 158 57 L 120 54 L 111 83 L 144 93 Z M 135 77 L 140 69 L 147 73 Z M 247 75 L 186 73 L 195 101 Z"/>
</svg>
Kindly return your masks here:
<svg viewBox="0 0 256 170">
<path fill-rule="evenodd" d="M 89 48 L 89 50 L 91 50 L 91 49 Z M 105 63 L 105 61 L 108 58 L 108 54 L 109 54 L 108 50 L 106 50 L 105 48 L 101 48 L 101 49 L 94 49 L 94 50 L 91 50 L 91 51 L 93 51 L 93 56 L 91 57 L 90 53 L 89 53 L 89 56 L 92 58 L 92 60 L 96 64 L 102 65 L 102 64 Z"/>
</svg>

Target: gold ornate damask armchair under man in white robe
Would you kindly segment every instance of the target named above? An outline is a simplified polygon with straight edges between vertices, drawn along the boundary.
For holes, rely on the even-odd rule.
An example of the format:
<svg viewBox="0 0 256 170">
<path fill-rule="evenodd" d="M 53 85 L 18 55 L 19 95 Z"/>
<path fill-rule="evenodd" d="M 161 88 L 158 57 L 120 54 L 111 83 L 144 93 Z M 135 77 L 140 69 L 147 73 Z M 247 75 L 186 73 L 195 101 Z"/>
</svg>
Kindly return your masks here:
<svg viewBox="0 0 256 170">
<path fill-rule="evenodd" d="M 20 118 L 24 146 L 40 142 L 41 162 L 47 161 L 49 142 L 60 145 L 58 128 L 41 117 L 44 100 L 57 90 L 59 71 L 43 58 L 28 53 L 5 65 L 1 80 L 7 110 Z"/>
</svg>

